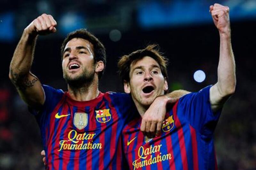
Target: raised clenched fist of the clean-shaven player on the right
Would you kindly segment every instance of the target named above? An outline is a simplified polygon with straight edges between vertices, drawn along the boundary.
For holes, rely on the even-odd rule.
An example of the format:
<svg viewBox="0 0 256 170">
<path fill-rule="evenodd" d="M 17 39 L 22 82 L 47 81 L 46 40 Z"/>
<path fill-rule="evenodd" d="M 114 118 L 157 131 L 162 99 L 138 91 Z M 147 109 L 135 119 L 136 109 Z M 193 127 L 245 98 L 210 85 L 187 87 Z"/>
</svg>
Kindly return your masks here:
<svg viewBox="0 0 256 170">
<path fill-rule="evenodd" d="M 210 6 L 210 12 L 215 26 L 220 33 L 230 33 L 229 8 L 220 4 Z"/>
</svg>

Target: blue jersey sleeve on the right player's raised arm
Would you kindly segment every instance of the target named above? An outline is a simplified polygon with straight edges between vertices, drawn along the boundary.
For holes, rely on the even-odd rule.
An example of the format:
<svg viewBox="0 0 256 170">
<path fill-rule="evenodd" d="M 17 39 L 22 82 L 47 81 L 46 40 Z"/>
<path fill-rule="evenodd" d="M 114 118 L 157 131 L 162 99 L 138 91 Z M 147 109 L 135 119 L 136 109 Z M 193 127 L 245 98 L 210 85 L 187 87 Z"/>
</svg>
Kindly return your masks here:
<svg viewBox="0 0 256 170">
<path fill-rule="evenodd" d="M 182 114 L 204 137 L 212 137 L 213 131 L 220 117 L 221 109 L 216 113 L 212 112 L 210 103 L 210 86 L 199 92 L 189 93 L 179 100 L 178 109 L 182 109 Z"/>
</svg>

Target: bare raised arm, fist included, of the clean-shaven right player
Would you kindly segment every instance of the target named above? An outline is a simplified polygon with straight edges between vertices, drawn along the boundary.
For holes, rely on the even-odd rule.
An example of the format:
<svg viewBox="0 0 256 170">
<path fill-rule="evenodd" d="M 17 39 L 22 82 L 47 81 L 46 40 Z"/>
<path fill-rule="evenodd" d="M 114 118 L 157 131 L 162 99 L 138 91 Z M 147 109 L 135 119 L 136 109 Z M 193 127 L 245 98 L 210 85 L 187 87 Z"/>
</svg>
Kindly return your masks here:
<svg viewBox="0 0 256 170">
<path fill-rule="evenodd" d="M 229 8 L 220 4 L 210 6 L 215 26 L 220 34 L 220 58 L 218 65 L 218 82 L 210 89 L 212 111 L 220 109 L 225 101 L 235 92 L 235 59 L 231 46 Z"/>
</svg>

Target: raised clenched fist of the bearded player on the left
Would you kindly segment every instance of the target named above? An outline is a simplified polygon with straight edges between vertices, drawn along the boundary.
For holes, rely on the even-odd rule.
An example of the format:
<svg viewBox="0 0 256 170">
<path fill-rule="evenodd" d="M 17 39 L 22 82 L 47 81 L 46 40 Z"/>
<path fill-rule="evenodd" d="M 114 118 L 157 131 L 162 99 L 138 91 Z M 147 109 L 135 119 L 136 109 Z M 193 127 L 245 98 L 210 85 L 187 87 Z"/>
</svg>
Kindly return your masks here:
<svg viewBox="0 0 256 170">
<path fill-rule="evenodd" d="M 47 35 L 55 33 L 57 22 L 52 15 L 42 14 L 32 21 L 26 28 L 25 32 L 31 35 Z"/>
</svg>

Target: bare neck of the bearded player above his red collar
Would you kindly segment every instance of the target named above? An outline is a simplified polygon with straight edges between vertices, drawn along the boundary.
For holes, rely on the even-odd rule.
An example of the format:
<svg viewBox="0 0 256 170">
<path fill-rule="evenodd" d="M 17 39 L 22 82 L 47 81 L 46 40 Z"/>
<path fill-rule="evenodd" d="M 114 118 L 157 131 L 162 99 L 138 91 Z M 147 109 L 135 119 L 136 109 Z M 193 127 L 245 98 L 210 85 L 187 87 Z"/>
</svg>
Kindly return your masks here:
<svg viewBox="0 0 256 170">
<path fill-rule="evenodd" d="M 100 91 L 98 89 L 98 77 L 94 77 L 91 82 L 80 85 L 68 84 L 68 93 L 73 100 L 88 101 L 98 97 Z"/>
</svg>

